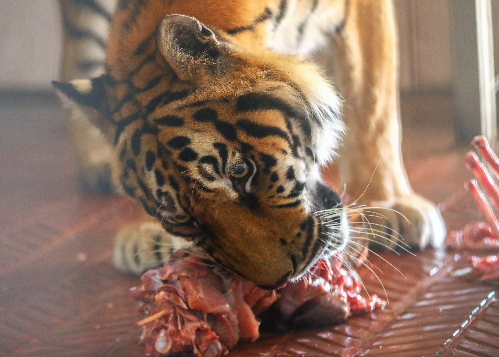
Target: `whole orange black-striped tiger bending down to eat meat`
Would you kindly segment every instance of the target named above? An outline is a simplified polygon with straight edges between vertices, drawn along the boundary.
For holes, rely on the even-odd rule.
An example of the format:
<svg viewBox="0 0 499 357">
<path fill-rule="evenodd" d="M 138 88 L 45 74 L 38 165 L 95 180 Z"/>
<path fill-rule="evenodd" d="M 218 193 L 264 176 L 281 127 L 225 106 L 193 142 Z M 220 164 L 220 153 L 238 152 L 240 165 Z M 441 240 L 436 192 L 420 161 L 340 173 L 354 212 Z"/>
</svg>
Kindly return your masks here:
<svg viewBox="0 0 499 357">
<path fill-rule="evenodd" d="M 61 0 L 61 9 L 65 82 L 53 84 L 82 180 L 149 215 L 118 234 L 119 269 L 141 273 L 190 246 L 265 289 L 295 281 L 356 234 L 350 205 L 322 176 L 336 162 L 346 194 L 372 207 L 368 240 L 441 244 L 442 216 L 402 162 L 391 0 Z"/>
</svg>

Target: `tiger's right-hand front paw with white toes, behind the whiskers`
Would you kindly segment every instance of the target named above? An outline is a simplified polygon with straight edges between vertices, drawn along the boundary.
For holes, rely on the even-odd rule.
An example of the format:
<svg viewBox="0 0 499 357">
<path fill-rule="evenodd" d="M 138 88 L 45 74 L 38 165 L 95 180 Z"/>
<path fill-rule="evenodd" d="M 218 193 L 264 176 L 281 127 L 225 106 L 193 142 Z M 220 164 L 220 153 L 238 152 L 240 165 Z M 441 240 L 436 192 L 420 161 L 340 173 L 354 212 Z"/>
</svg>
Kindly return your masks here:
<svg viewBox="0 0 499 357">
<path fill-rule="evenodd" d="M 372 245 L 388 249 L 438 247 L 446 227 L 437 206 L 419 194 L 390 201 L 371 201 L 365 217 Z"/>
</svg>

